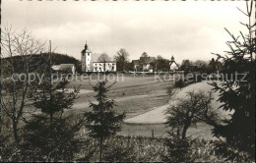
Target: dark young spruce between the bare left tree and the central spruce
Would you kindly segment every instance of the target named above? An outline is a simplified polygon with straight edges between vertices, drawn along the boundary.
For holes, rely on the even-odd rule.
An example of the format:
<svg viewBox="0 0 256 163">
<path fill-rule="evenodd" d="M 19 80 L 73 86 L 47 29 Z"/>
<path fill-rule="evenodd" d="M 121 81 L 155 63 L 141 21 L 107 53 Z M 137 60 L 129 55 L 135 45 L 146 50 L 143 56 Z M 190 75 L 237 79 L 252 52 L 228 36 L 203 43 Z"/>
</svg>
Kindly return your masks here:
<svg viewBox="0 0 256 163">
<path fill-rule="evenodd" d="M 54 79 L 51 72 L 51 62 L 45 65 L 43 78 L 39 84 L 35 84 L 36 92 L 31 94 L 32 105 L 42 113 L 50 116 L 50 123 L 53 115 L 70 109 L 77 98 L 79 89 L 74 88 L 73 92 L 67 92 L 65 86 L 68 84 L 68 76 Z M 56 77 L 57 78 L 57 77 Z"/>
</svg>

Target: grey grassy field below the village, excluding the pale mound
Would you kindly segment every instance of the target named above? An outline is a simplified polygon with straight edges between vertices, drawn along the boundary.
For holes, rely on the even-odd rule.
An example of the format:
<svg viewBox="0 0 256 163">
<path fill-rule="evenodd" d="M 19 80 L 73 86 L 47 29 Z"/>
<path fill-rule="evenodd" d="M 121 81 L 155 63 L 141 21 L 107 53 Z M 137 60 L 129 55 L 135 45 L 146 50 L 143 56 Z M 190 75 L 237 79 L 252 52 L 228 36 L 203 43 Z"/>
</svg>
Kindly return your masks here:
<svg viewBox="0 0 256 163">
<path fill-rule="evenodd" d="M 162 78 L 162 77 L 161 77 Z M 71 81 L 69 88 L 79 86 L 82 91 L 87 93 L 79 94 L 73 109 L 68 112 L 82 114 L 91 110 L 89 107 L 90 101 L 96 102 L 92 85 L 94 81 Z M 90 84 L 91 83 L 91 84 Z M 113 82 L 109 82 L 111 84 Z M 112 85 L 111 91 L 108 93 L 109 98 L 114 98 L 118 113 L 126 112 L 126 119 L 136 117 L 149 111 L 160 108 L 166 105 L 169 101 L 169 96 L 166 89 L 172 86 L 172 81 L 155 81 L 154 75 L 146 77 L 124 75 L 122 81 L 117 81 Z M 158 118 L 158 117 L 156 117 Z M 188 136 L 202 137 L 211 139 L 212 127 L 205 124 L 198 124 L 197 129 L 191 128 L 188 130 Z M 149 136 L 166 137 L 166 131 L 169 130 L 164 124 L 127 124 L 123 125 L 123 129 L 118 133 L 119 136 Z"/>
</svg>

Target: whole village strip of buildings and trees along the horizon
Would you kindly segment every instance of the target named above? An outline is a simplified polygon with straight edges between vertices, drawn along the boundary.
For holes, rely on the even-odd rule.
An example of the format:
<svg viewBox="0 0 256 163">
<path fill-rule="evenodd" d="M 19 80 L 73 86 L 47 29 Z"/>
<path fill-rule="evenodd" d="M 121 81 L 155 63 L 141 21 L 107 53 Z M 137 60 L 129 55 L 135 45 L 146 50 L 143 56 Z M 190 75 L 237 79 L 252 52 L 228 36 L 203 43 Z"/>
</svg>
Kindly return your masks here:
<svg viewBox="0 0 256 163">
<path fill-rule="evenodd" d="M 129 53 L 122 49 L 123 54 L 119 57 L 110 57 L 103 53 L 94 57 L 93 52 L 89 49 L 88 44 L 85 44 L 85 48 L 81 51 L 81 60 L 76 63 L 65 63 L 59 65 L 53 65 L 52 68 L 56 72 L 63 72 L 69 70 L 69 73 L 110 73 L 110 72 L 122 72 L 122 73 L 181 73 L 188 72 L 200 72 L 200 73 L 218 73 L 222 71 L 222 63 L 215 61 L 212 58 L 211 61 L 197 60 L 194 63 L 192 61 L 184 59 L 182 63 L 176 63 L 173 55 L 170 59 L 164 59 L 161 56 L 153 57 L 149 56 L 146 52 L 143 52 L 138 60 L 132 60 L 129 62 Z M 123 58 L 123 60 L 121 60 Z M 74 62 L 74 61 L 71 61 Z"/>
</svg>

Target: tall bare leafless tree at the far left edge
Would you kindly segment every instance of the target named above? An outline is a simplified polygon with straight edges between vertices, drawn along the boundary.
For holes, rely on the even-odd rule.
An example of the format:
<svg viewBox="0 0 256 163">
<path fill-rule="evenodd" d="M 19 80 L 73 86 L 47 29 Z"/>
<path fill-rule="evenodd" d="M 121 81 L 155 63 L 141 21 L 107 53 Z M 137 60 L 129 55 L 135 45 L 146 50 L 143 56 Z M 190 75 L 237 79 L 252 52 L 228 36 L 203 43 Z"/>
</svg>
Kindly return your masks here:
<svg viewBox="0 0 256 163">
<path fill-rule="evenodd" d="M 15 32 L 12 27 L 4 27 L 1 33 L 1 103 L 5 116 L 12 120 L 13 136 L 19 141 L 19 123 L 24 116 L 29 92 L 33 92 L 30 74 L 38 72 L 43 63 L 36 60 L 44 43 L 35 39 L 28 31 Z M 23 77 L 23 78 L 21 78 Z"/>
</svg>

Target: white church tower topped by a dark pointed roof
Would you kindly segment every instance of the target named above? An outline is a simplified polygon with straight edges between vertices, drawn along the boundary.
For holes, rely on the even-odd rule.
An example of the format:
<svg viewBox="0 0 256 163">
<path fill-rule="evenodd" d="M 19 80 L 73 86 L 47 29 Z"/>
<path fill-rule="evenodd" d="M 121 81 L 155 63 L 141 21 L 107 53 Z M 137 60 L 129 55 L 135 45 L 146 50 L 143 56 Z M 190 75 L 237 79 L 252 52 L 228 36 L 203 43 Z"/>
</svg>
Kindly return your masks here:
<svg viewBox="0 0 256 163">
<path fill-rule="evenodd" d="M 88 48 L 86 43 L 85 49 L 81 52 L 81 63 L 82 63 L 82 72 L 90 72 L 90 65 L 92 61 L 92 51 Z"/>
</svg>

